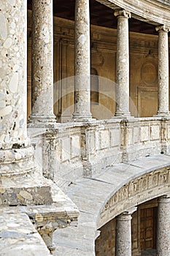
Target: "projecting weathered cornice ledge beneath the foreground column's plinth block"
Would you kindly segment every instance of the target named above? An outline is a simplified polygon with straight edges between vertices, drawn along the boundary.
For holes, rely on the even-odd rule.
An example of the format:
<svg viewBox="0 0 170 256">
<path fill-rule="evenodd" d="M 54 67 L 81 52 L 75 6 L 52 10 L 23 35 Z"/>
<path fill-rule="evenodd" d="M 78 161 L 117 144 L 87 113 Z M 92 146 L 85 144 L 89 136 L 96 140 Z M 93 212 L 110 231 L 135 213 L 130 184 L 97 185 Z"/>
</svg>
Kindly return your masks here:
<svg viewBox="0 0 170 256">
<path fill-rule="evenodd" d="M 38 230 L 45 241 L 47 248 L 50 249 L 50 252 L 53 252 L 55 250 L 53 232 L 57 228 L 63 228 L 69 225 L 77 226 L 77 218 L 80 212 L 77 206 L 75 206 L 72 200 L 61 189 L 51 181 L 47 181 L 47 183 L 52 190 L 53 203 L 51 205 L 1 206 L 0 216 L 4 218 L 5 214 L 14 214 L 15 216 L 18 216 L 18 214 L 28 215 L 32 224 L 34 224 L 34 227 L 36 227 L 36 230 Z M 3 246 L 3 244 L 4 241 L 0 240 L 0 246 Z"/>
</svg>

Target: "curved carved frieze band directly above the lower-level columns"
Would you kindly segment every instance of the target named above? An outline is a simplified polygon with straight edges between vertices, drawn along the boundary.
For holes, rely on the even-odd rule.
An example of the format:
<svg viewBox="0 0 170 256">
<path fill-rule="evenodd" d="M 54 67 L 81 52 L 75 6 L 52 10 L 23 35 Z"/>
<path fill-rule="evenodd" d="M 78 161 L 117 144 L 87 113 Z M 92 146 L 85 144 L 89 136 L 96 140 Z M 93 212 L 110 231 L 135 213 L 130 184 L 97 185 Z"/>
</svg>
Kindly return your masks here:
<svg viewBox="0 0 170 256">
<path fill-rule="evenodd" d="M 124 184 L 107 201 L 98 219 L 98 227 L 103 226 L 128 208 L 138 206 L 155 197 L 169 193 L 170 167 L 145 173 Z"/>
</svg>

